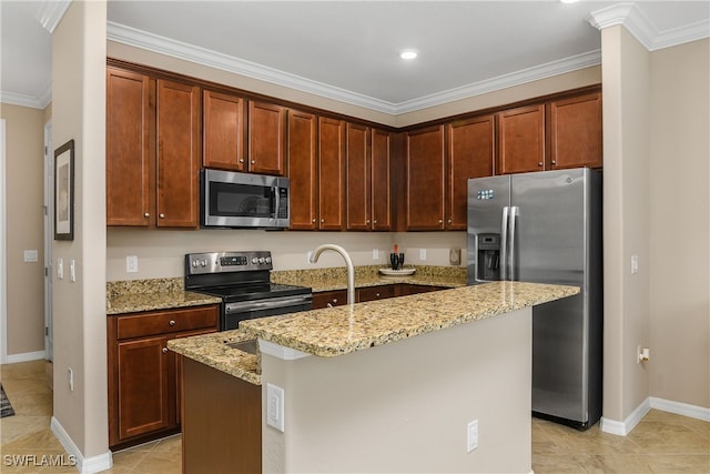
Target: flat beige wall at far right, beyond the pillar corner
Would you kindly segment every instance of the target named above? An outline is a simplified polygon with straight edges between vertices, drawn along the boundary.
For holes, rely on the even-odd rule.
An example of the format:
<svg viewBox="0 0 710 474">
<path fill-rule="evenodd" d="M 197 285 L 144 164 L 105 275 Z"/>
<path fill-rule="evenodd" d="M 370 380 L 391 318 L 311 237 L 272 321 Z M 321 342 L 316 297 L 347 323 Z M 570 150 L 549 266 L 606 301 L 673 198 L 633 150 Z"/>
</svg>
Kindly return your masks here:
<svg viewBox="0 0 710 474">
<path fill-rule="evenodd" d="M 710 40 L 650 70 L 650 395 L 710 407 Z"/>
</svg>

